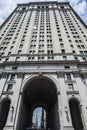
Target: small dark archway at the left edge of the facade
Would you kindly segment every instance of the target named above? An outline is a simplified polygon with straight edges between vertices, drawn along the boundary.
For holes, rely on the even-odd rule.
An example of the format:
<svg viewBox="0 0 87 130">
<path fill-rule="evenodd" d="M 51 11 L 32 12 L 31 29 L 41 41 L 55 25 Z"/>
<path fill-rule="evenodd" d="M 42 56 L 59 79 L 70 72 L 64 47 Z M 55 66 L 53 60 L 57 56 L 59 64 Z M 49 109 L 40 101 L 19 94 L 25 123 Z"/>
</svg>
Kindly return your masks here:
<svg viewBox="0 0 87 130">
<path fill-rule="evenodd" d="M 11 103 L 10 99 L 4 99 L 0 103 L 0 130 L 3 130 L 6 124 L 10 103 Z"/>
</svg>

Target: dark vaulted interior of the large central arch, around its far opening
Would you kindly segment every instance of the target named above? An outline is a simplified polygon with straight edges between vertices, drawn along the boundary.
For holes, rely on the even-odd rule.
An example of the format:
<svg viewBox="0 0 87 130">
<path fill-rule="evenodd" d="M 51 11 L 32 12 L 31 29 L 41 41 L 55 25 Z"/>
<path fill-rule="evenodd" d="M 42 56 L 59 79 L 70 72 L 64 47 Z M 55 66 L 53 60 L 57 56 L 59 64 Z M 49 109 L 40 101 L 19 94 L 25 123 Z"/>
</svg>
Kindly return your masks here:
<svg viewBox="0 0 87 130">
<path fill-rule="evenodd" d="M 55 84 L 46 77 L 36 77 L 27 83 L 23 91 L 17 130 L 32 128 L 33 111 L 42 107 L 46 111 L 46 128 L 58 130 L 58 99 Z"/>
</svg>

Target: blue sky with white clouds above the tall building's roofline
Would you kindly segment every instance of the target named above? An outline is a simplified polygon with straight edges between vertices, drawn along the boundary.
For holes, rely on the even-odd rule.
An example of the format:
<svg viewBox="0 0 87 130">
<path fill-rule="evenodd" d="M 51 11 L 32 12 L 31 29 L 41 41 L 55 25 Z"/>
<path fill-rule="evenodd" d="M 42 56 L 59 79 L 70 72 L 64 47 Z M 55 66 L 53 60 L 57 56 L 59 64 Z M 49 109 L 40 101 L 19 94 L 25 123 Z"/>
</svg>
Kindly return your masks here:
<svg viewBox="0 0 87 130">
<path fill-rule="evenodd" d="M 0 25 L 16 8 L 17 3 L 27 3 L 29 1 L 54 1 L 54 0 L 0 0 Z M 55 0 L 56 1 L 56 0 Z M 69 1 L 74 10 L 87 24 L 87 0 L 58 0 Z"/>
</svg>

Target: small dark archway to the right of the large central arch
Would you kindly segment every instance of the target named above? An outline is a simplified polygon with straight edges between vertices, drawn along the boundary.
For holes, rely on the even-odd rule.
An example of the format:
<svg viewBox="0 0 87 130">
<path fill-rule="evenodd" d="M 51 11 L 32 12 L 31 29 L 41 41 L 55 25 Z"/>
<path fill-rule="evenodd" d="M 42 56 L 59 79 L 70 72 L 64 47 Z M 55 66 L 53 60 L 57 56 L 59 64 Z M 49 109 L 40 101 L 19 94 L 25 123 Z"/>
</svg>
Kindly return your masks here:
<svg viewBox="0 0 87 130">
<path fill-rule="evenodd" d="M 76 99 L 71 99 L 69 101 L 69 106 L 74 130 L 83 130 L 79 101 Z"/>
</svg>

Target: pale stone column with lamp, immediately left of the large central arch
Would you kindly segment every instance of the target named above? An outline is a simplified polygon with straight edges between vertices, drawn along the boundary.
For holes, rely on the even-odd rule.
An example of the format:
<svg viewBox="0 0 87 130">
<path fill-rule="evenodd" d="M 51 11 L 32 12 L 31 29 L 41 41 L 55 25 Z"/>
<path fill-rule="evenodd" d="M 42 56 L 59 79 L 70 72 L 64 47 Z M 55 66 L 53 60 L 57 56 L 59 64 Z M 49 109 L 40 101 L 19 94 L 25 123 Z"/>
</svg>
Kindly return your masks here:
<svg viewBox="0 0 87 130">
<path fill-rule="evenodd" d="M 13 87 L 14 94 L 12 96 L 7 122 L 3 130 L 14 130 L 22 80 L 23 74 L 20 73 L 17 75 L 16 84 Z"/>
</svg>

